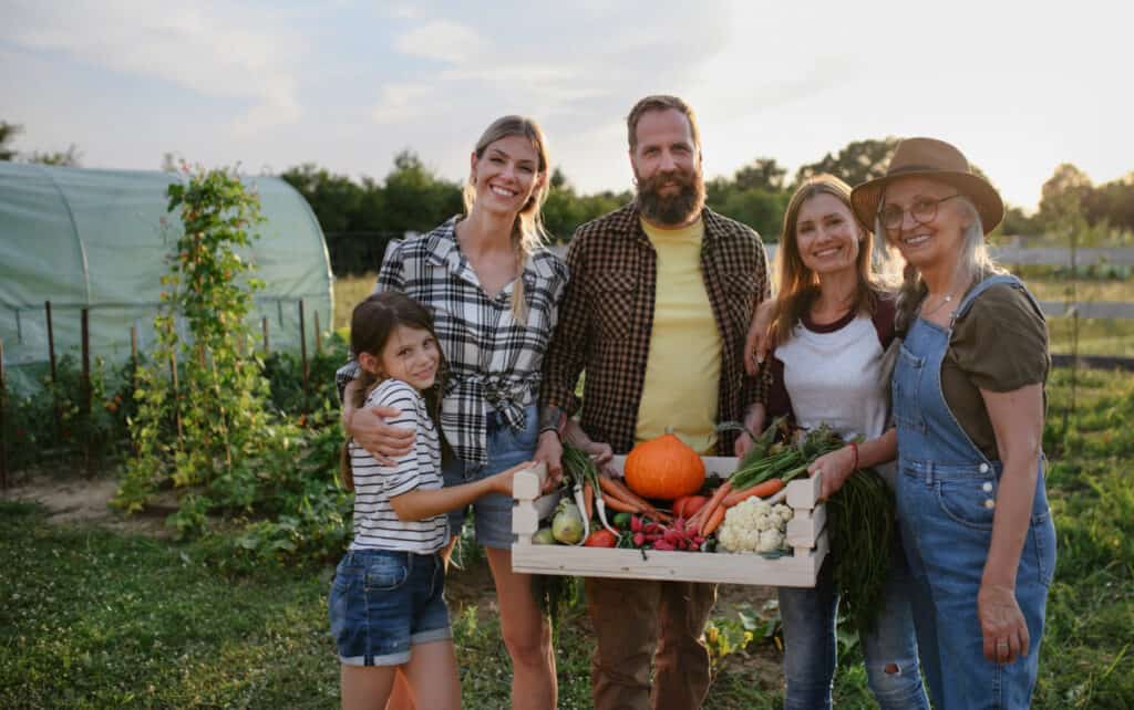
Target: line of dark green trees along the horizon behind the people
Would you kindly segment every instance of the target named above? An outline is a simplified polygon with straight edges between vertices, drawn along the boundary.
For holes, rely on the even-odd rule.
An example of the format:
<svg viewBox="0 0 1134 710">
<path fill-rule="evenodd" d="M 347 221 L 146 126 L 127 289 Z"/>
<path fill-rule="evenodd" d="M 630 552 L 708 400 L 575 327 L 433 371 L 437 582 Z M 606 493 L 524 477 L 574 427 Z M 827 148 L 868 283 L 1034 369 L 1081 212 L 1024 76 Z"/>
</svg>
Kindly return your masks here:
<svg viewBox="0 0 1134 710">
<path fill-rule="evenodd" d="M 78 165 L 79 152 L 71 145 L 65 152 L 19 154 L 7 144 L 22 127 L 0 121 L 0 160 L 23 160 Z M 756 157 L 731 176 L 705 180 L 710 208 L 748 224 L 765 240 L 775 241 L 780 231 L 788 198 L 806 178 L 829 172 L 850 185 L 882 176 L 898 139 L 886 137 L 855 140 L 820 160 L 801 166 L 794 176 L 773 157 Z M 168 164 L 166 156 L 163 166 Z M 979 168 L 975 168 L 980 172 Z M 459 213 L 462 187 L 426 166 L 411 149 L 398 153 L 386 177 L 354 180 L 336 174 L 315 163 L 289 168 L 280 176 L 307 200 L 331 247 L 332 263 L 373 265 L 386 242 L 407 231 L 429 230 Z M 579 194 L 564 172 L 556 168 L 543 208 L 544 226 L 556 241 L 567 241 L 575 229 L 615 209 L 632 198 L 629 190 Z M 1068 213 L 1073 222 L 1098 234 L 1119 233 L 1122 243 L 1134 234 L 1134 171 L 1127 176 L 1093 185 L 1070 163 L 1056 168 L 1042 189 L 1039 209 L 1025 214 L 1008 206 L 999 232 L 1005 234 L 1058 234 L 1066 231 Z M 1095 237 L 1098 240 L 1098 237 Z M 337 258 L 338 257 L 338 258 Z M 338 266 L 336 267 L 338 272 Z"/>
</svg>

